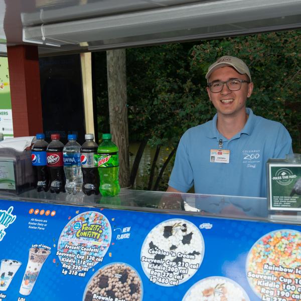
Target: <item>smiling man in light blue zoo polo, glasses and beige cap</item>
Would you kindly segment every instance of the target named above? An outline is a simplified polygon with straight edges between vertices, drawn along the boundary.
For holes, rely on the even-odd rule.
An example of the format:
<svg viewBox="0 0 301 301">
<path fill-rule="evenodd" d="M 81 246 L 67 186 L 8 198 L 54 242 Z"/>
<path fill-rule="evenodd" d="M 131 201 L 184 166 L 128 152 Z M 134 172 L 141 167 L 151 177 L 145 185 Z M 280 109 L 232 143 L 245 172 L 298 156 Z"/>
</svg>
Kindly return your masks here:
<svg viewBox="0 0 301 301">
<path fill-rule="evenodd" d="M 266 197 L 265 165 L 292 153 L 288 131 L 246 108 L 253 83 L 242 60 L 221 57 L 206 79 L 217 114 L 181 137 L 167 191 Z"/>
</svg>

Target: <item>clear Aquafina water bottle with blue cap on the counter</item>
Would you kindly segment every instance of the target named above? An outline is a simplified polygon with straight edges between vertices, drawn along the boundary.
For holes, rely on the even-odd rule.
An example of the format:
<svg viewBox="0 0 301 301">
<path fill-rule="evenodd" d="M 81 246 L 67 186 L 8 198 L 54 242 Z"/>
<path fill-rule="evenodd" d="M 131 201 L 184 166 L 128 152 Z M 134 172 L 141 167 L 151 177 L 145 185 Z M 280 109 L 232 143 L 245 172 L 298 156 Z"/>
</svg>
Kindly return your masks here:
<svg viewBox="0 0 301 301">
<path fill-rule="evenodd" d="M 63 148 L 64 172 L 66 176 L 66 192 L 76 194 L 81 191 L 83 178 L 80 166 L 80 144 L 76 142 L 76 134 L 68 135 L 68 142 Z"/>
</svg>

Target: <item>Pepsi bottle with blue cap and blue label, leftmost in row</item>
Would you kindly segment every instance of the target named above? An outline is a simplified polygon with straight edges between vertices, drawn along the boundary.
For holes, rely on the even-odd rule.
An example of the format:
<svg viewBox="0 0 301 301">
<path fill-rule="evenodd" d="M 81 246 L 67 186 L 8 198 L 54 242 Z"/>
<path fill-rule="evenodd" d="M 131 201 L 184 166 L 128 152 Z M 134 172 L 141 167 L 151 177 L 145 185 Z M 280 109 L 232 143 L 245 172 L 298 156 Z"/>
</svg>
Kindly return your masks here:
<svg viewBox="0 0 301 301">
<path fill-rule="evenodd" d="M 32 147 L 32 165 L 36 177 L 35 187 L 37 191 L 42 190 L 47 191 L 49 186 L 49 176 L 47 169 L 46 160 L 46 149 L 48 143 L 44 140 L 45 135 L 43 133 L 38 133 L 36 135 L 37 141 Z"/>
</svg>

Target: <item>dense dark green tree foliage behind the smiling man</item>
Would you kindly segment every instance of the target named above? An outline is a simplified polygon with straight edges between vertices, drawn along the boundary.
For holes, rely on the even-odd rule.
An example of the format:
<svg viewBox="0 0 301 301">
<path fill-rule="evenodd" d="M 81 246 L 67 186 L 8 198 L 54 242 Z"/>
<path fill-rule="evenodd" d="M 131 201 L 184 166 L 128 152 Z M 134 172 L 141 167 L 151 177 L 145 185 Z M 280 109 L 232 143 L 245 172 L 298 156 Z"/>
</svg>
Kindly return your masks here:
<svg viewBox="0 0 301 301">
<path fill-rule="evenodd" d="M 301 153 L 300 33 L 272 32 L 127 49 L 129 139 L 146 139 L 156 147 L 169 145 L 174 153 L 186 129 L 215 114 L 205 74 L 217 58 L 232 55 L 250 68 L 254 90 L 247 106 L 256 115 L 281 122 L 292 136 L 294 152 Z M 105 107 L 104 94 L 100 94 L 98 107 Z M 161 168 L 157 166 L 158 172 Z M 166 180 L 158 184 L 157 179 L 156 185 L 167 188 Z"/>
</svg>

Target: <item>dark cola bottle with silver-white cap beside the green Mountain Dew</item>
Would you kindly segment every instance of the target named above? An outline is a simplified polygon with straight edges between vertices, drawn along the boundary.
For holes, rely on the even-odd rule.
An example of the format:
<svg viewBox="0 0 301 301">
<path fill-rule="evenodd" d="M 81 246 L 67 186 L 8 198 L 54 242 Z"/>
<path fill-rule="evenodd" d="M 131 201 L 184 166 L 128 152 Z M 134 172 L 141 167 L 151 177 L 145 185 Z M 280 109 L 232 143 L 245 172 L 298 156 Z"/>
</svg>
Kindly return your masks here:
<svg viewBox="0 0 301 301">
<path fill-rule="evenodd" d="M 99 174 L 97 169 L 97 143 L 93 134 L 85 134 L 86 141 L 80 149 L 80 163 L 83 174 L 83 192 L 86 195 L 99 194 Z"/>
</svg>

